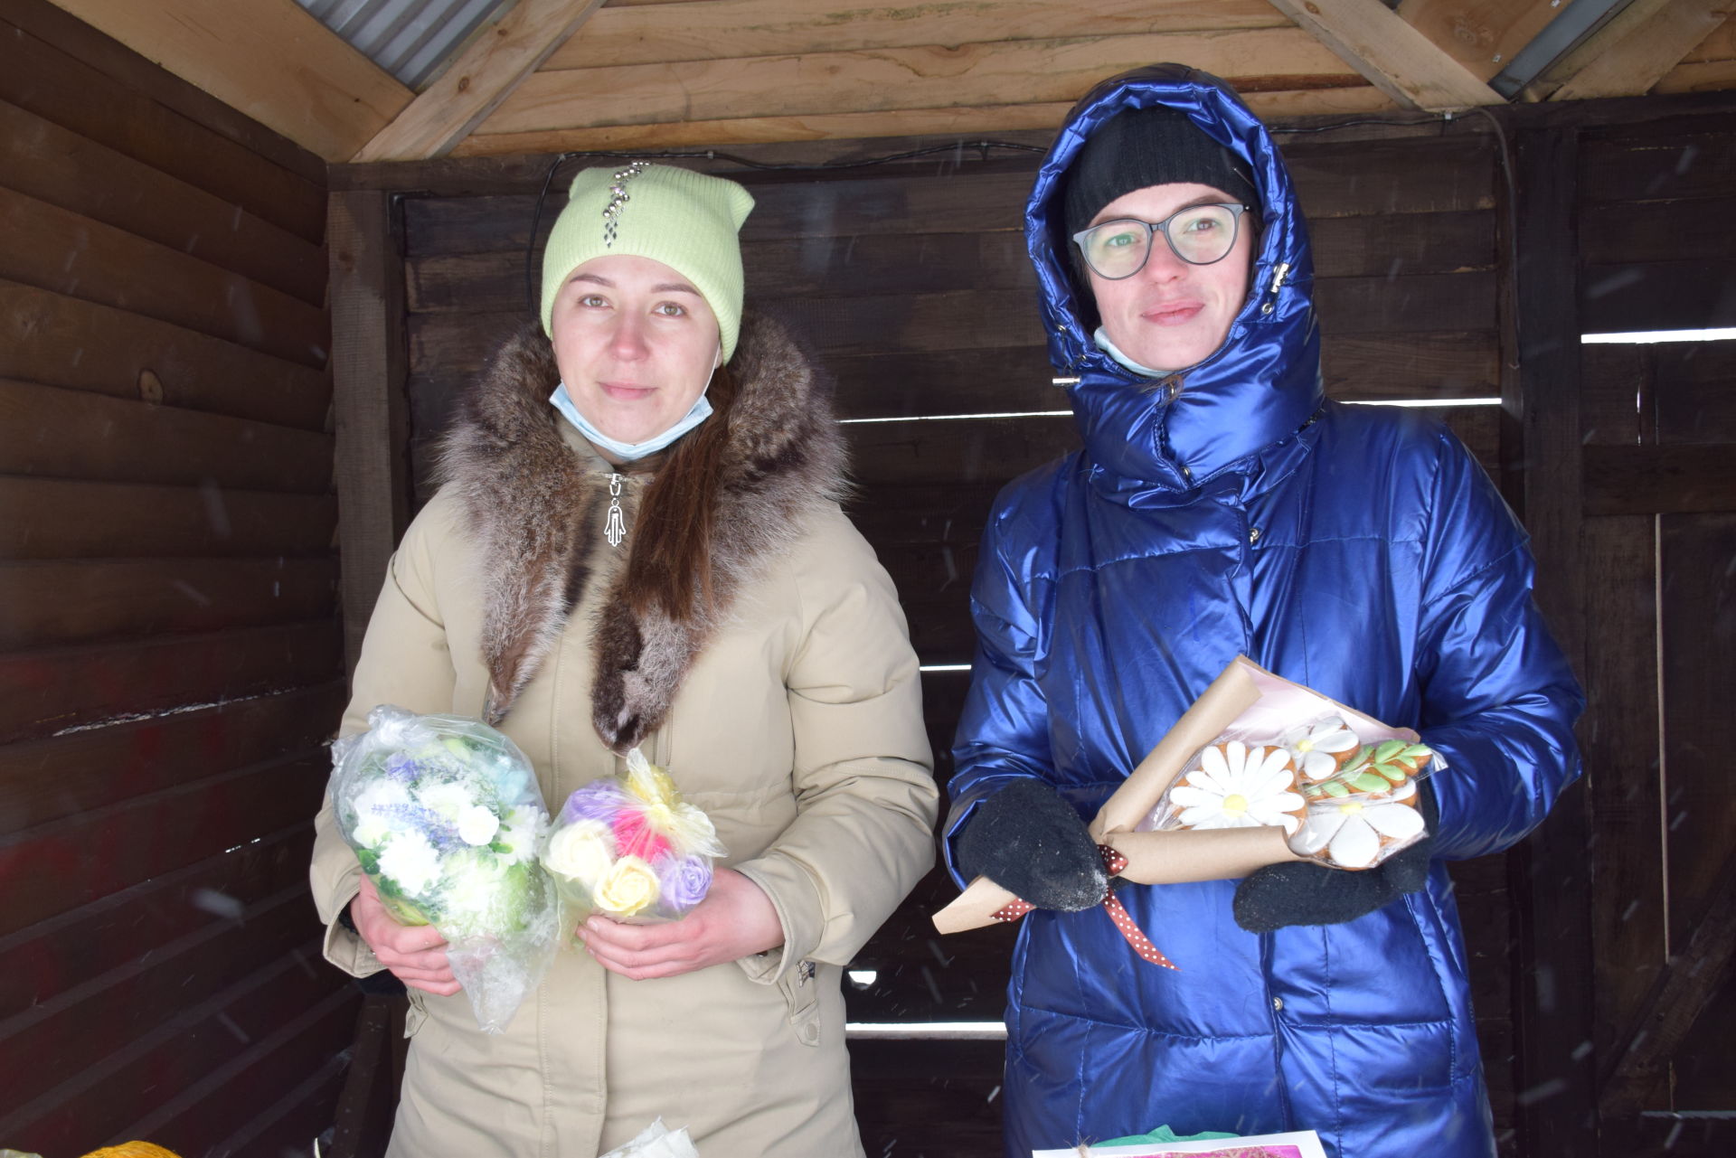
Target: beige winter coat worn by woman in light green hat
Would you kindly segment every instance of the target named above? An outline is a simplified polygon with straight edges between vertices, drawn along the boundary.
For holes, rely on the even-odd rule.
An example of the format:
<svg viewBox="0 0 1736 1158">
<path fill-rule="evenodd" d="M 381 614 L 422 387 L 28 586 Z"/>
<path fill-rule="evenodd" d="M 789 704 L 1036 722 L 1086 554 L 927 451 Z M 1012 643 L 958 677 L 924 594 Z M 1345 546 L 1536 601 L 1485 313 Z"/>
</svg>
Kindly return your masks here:
<svg viewBox="0 0 1736 1158">
<path fill-rule="evenodd" d="M 536 340 L 521 339 L 529 344 L 521 356 L 509 351 L 483 384 L 484 392 L 523 387 L 505 418 L 488 415 L 484 405 L 477 424 L 472 411 L 472 432 L 483 443 L 498 436 L 496 444 L 457 448 L 453 481 L 392 557 L 342 731 L 365 729 L 366 712 L 378 703 L 479 717 L 505 710 L 498 726 L 536 767 L 554 811 L 580 785 L 621 767 L 599 738 L 597 717 L 621 729 L 611 740 L 637 738 L 686 799 L 712 816 L 729 849 L 726 865 L 766 891 L 785 943 L 653 981 L 628 981 L 566 950 L 496 1036 L 476 1028 L 462 993 L 411 991 L 410 1061 L 389 1153 L 587 1158 L 661 1116 L 670 1127 L 687 1127 L 703 1158 L 861 1155 L 840 970 L 927 872 L 936 788 L 917 660 L 896 592 L 828 497 L 833 483 L 816 479 L 812 464 L 799 465 L 779 500 L 786 505 L 760 502 L 767 472 L 776 474 L 767 464 L 792 460 L 792 453 L 766 453 L 778 448 L 764 441 L 825 443 L 833 438 L 830 415 L 811 396 L 806 363 L 779 332 L 752 323 L 738 356 L 748 368 L 738 441 L 743 460 L 755 465 L 748 498 L 724 512 L 724 524 L 757 545 L 720 547 L 734 552 L 720 571 L 731 592 L 720 622 L 627 622 L 615 589 L 625 547 L 616 552 L 602 542 L 590 507 L 608 502 L 611 469 L 543 401 L 552 366 L 543 365 Z M 767 389 L 769 401 L 753 394 Z M 753 406 L 762 403 L 764 422 L 755 425 Z M 814 422 L 790 418 L 792 406 L 812 411 Z M 465 438 L 460 429 L 460 443 Z M 554 465 L 556 458 L 562 464 Z M 835 446 L 816 458 L 821 470 L 833 470 Z M 526 609 L 535 599 L 502 592 L 498 556 L 512 535 L 510 526 L 477 524 L 488 491 L 486 479 L 477 483 L 477 460 L 484 469 L 510 460 L 495 483 L 507 479 L 514 488 L 523 486 L 526 464 L 533 474 L 562 474 L 545 488 L 542 505 L 505 523 L 549 519 L 550 503 L 571 509 L 568 554 L 540 540 L 519 547 L 547 549 L 543 556 L 557 561 L 549 575 L 582 576 L 575 608 L 554 595 L 542 609 Z M 642 486 L 634 477 L 625 488 L 628 533 Z M 781 526 L 750 526 L 779 516 L 788 516 Z M 514 568 L 547 569 L 517 559 L 507 569 Z M 611 644 L 599 642 L 611 634 L 616 642 L 625 634 L 632 646 L 613 655 Z M 529 642 L 502 655 L 500 637 Z M 694 644 L 686 658 L 682 639 Z M 672 698 L 663 703 L 661 693 Z M 654 727 L 639 738 L 623 720 Z M 358 880 L 356 858 L 326 807 L 312 863 L 314 899 L 328 925 L 326 958 L 366 976 L 378 962 L 335 924 Z"/>
</svg>

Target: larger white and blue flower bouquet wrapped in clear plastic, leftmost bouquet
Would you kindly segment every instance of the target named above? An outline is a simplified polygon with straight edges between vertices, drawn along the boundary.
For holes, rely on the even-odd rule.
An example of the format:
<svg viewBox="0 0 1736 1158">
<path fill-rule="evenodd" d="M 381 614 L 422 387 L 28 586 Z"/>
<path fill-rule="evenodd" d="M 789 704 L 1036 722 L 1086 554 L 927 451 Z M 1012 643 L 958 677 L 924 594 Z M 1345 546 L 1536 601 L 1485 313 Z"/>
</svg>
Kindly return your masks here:
<svg viewBox="0 0 1736 1158">
<path fill-rule="evenodd" d="M 464 715 L 368 712 L 332 745 L 339 830 L 404 925 L 446 938 L 477 1024 L 498 1033 L 549 970 L 557 924 L 536 845 L 549 813 L 517 745 Z"/>
</svg>

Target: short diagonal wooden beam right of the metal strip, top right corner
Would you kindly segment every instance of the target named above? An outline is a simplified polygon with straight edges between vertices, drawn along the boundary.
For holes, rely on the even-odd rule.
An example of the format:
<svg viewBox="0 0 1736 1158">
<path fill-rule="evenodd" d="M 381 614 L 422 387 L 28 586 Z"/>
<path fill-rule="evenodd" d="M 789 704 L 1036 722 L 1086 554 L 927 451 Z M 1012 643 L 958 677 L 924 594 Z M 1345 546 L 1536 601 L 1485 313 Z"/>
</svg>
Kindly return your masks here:
<svg viewBox="0 0 1736 1158">
<path fill-rule="evenodd" d="M 1550 101 L 1637 97 L 1729 16 L 1729 0 L 1634 0 L 1547 73 Z"/>
</svg>

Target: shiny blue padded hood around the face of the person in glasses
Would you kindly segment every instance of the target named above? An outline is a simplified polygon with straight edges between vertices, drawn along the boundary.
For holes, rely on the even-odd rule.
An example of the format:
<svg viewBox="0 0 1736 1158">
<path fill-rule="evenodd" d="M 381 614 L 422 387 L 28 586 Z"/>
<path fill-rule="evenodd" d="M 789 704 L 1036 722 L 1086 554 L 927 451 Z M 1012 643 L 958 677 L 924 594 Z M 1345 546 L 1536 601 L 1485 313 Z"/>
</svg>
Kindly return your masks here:
<svg viewBox="0 0 1736 1158">
<path fill-rule="evenodd" d="M 1080 318 L 1068 276 L 1061 191 L 1073 158 L 1099 125 L 1121 109 L 1160 104 L 1182 109 L 1248 163 L 1264 229 L 1248 300 L 1224 345 L 1200 365 L 1154 382 L 1097 349 Z M 1049 356 L 1057 372 L 1078 377 L 1073 413 L 1101 491 L 1132 505 L 1163 503 L 1233 467 L 1271 472 L 1278 464 L 1260 462 L 1266 453 L 1319 410 L 1307 226 L 1278 146 L 1219 78 L 1180 64 L 1153 64 L 1088 92 L 1043 158 L 1024 212 L 1024 236 L 1036 266 Z"/>
</svg>

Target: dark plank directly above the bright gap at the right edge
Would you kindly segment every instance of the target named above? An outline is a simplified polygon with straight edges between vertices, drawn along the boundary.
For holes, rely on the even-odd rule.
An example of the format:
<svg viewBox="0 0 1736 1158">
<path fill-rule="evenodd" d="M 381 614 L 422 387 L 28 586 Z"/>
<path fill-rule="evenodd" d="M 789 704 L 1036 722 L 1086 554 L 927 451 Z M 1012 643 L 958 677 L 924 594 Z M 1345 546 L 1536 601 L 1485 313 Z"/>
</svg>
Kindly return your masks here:
<svg viewBox="0 0 1736 1158">
<path fill-rule="evenodd" d="M 1580 278 L 1585 333 L 1736 326 L 1729 259 L 1588 266 Z"/>
</svg>

